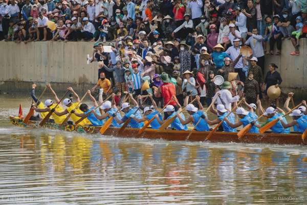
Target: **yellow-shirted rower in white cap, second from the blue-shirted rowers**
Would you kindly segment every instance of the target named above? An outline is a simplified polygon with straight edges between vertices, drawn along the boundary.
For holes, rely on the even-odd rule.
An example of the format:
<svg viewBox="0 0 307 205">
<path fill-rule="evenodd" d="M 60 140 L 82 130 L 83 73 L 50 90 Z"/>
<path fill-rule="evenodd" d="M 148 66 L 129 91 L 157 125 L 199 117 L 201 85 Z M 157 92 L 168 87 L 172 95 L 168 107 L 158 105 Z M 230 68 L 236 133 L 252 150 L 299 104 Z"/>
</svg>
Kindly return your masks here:
<svg viewBox="0 0 307 205">
<path fill-rule="evenodd" d="M 50 84 L 47 84 L 46 85 L 47 88 L 52 92 L 54 98 L 55 98 L 55 101 L 56 101 L 56 104 L 53 103 L 53 101 L 51 99 L 47 99 L 45 100 L 45 108 L 41 109 L 41 108 L 35 108 L 35 111 L 36 112 L 40 112 L 40 113 L 43 113 L 43 112 L 50 112 L 52 109 L 54 109 L 57 105 L 57 103 L 59 103 L 59 98 L 57 97 L 56 93 L 54 92 L 54 90 L 51 88 Z M 59 104 L 56 108 L 55 108 L 55 112 L 63 112 L 64 109 L 62 108 L 61 104 Z M 66 118 L 65 115 L 62 115 L 62 116 L 58 116 L 57 114 L 55 114 L 55 112 L 52 113 L 52 117 L 54 119 L 54 122 L 56 124 L 62 124 L 62 122 L 64 121 L 64 119 Z"/>
</svg>

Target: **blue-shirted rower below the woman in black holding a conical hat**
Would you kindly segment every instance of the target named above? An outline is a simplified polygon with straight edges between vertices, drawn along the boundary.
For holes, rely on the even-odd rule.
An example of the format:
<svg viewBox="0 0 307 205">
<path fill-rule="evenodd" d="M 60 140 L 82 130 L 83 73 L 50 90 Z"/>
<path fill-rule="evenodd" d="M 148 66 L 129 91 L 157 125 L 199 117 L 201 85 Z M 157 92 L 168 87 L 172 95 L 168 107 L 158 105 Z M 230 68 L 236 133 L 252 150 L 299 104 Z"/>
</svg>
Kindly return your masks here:
<svg viewBox="0 0 307 205">
<path fill-rule="evenodd" d="M 264 115 L 268 118 L 266 124 L 269 122 L 273 121 L 274 119 L 277 119 L 278 117 L 281 117 L 282 121 L 284 123 L 287 123 L 286 118 L 282 117 L 283 113 L 277 113 L 275 108 L 273 107 L 268 107 Z M 281 124 L 281 120 L 279 120 L 272 128 L 271 128 L 273 133 L 277 134 L 288 134 L 290 133 L 289 128 L 283 128 Z"/>
</svg>

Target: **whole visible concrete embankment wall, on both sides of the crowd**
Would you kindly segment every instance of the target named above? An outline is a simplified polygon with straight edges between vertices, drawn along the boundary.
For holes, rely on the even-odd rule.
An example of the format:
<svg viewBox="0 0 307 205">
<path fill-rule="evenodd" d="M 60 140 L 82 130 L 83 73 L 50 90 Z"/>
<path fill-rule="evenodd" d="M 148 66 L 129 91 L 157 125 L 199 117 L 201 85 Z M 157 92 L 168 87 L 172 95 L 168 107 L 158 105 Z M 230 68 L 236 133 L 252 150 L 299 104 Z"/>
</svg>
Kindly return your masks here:
<svg viewBox="0 0 307 205">
<path fill-rule="evenodd" d="M 266 65 L 279 67 L 283 92 L 303 95 L 307 91 L 307 40 L 300 39 L 300 45 L 301 54 L 291 56 L 293 46 L 283 40 L 281 55 L 267 55 Z M 57 91 L 72 86 L 84 92 L 98 78 L 97 63 L 86 64 L 86 55 L 92 52 L 93 43 L 87 42 L 0 42 L 0 90 L 28 92 L 33 82 L 39 86 L 50 82 Z"/>
</svg>

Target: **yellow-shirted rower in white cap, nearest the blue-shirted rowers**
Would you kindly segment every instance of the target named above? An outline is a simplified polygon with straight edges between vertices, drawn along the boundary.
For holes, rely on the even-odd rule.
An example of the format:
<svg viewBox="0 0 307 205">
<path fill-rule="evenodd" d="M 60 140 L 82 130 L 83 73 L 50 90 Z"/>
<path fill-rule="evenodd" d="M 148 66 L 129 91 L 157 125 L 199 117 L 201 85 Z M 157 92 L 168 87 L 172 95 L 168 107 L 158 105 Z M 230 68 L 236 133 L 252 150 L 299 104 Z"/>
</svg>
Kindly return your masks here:
<svg viewBox="0 0 307 205">
<path fill-rule="evenodd" d="M 63 116 L 65 114 L 69 114 L 72 112 L 72 110 L 75 109 L 75 112 L 70 116 L 70 118 L 76 122 L 78 121 L 81 117 L 78 117 L 77 115 L 75 115 L 75 113 L 77 114 L 83 114 L 83 112 L 79 109 L 79 102 L 80 102 L 80 98 L 79 98 L 79 95 L 73 90 L 72 87 L 69 87 L 68 90 L 70 90 L 74 96 L 76 97 L 77 99 L 77 102 L 76 103 L 73 103 L 71 99 L 69 98 L 65 98 L 63 100 L 63 104 L 64 106 L 67 106 L 67 108 L 65 110 L 63 110 L 62 112 L 57 112 L 55 111 L 54 113 L 57 115 L 57 116 Z M 78 107 L 77 107 L 78 106 Z M 77 108 L 76 108 L 77 107 Z M 80 126 L 86 126 L 86 125 L 91 125 L 91 122 L 90 120 L 88 120 L 87 118 L 83 119 L 81 122 L 79 122 Z"/>
</svg>

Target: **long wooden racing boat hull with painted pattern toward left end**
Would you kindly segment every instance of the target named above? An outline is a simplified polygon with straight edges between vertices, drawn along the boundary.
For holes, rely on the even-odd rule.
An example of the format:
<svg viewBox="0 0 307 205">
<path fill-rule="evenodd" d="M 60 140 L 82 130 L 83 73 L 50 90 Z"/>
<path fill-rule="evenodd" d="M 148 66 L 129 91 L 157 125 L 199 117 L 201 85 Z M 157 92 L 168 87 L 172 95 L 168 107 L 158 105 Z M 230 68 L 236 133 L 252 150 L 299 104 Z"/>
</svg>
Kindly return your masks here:
<svg viewBox="0 0 307 205">
<path fill-rule="evenodd" d="M 23 119 L 19 119 L 15 116 L 10 116 L 10 121 L 13 125 L 24 128 L 38 128 L 39 121 L 30 120 L 28 124 L 23 122 Z M 44 128 L 62 130 L 68 132 L 78 132 L 87 134 L 100 134 L 101 127 L 94 126 L 75 126 L 65 125 L 60 126 L 55 123 L 47 122 Z M 108 128 L 104 135 L 113 135 L 117 137 L 132 137 L 132 138 L 148 138 L 148 139 L 165 139 L 165 140 L 188 140 L 188 141 L 205 141 L 207 135 L 210 132 L 198 132 L 193 131 L 190 137 L 187 139 L 190 131 L 177 131 L 177 130 L 164 130 L 159 132 L 158 130 L 146 129 L 141 135 L 138 134 L 139 129 L 126 128 L 124 132 L 118 133 L 118 128 Z M 208 140 L 210 142 L 238 142 L 238 143 L 250 143 L 250 144 L 280 144 L 280 145 L 306 145 L 301 138 L 301 134 L 253 134 L 248 133 L 246 136 L 238 139 L 237 133 L 234 132 L 215 132 Z"/>
</svg>

